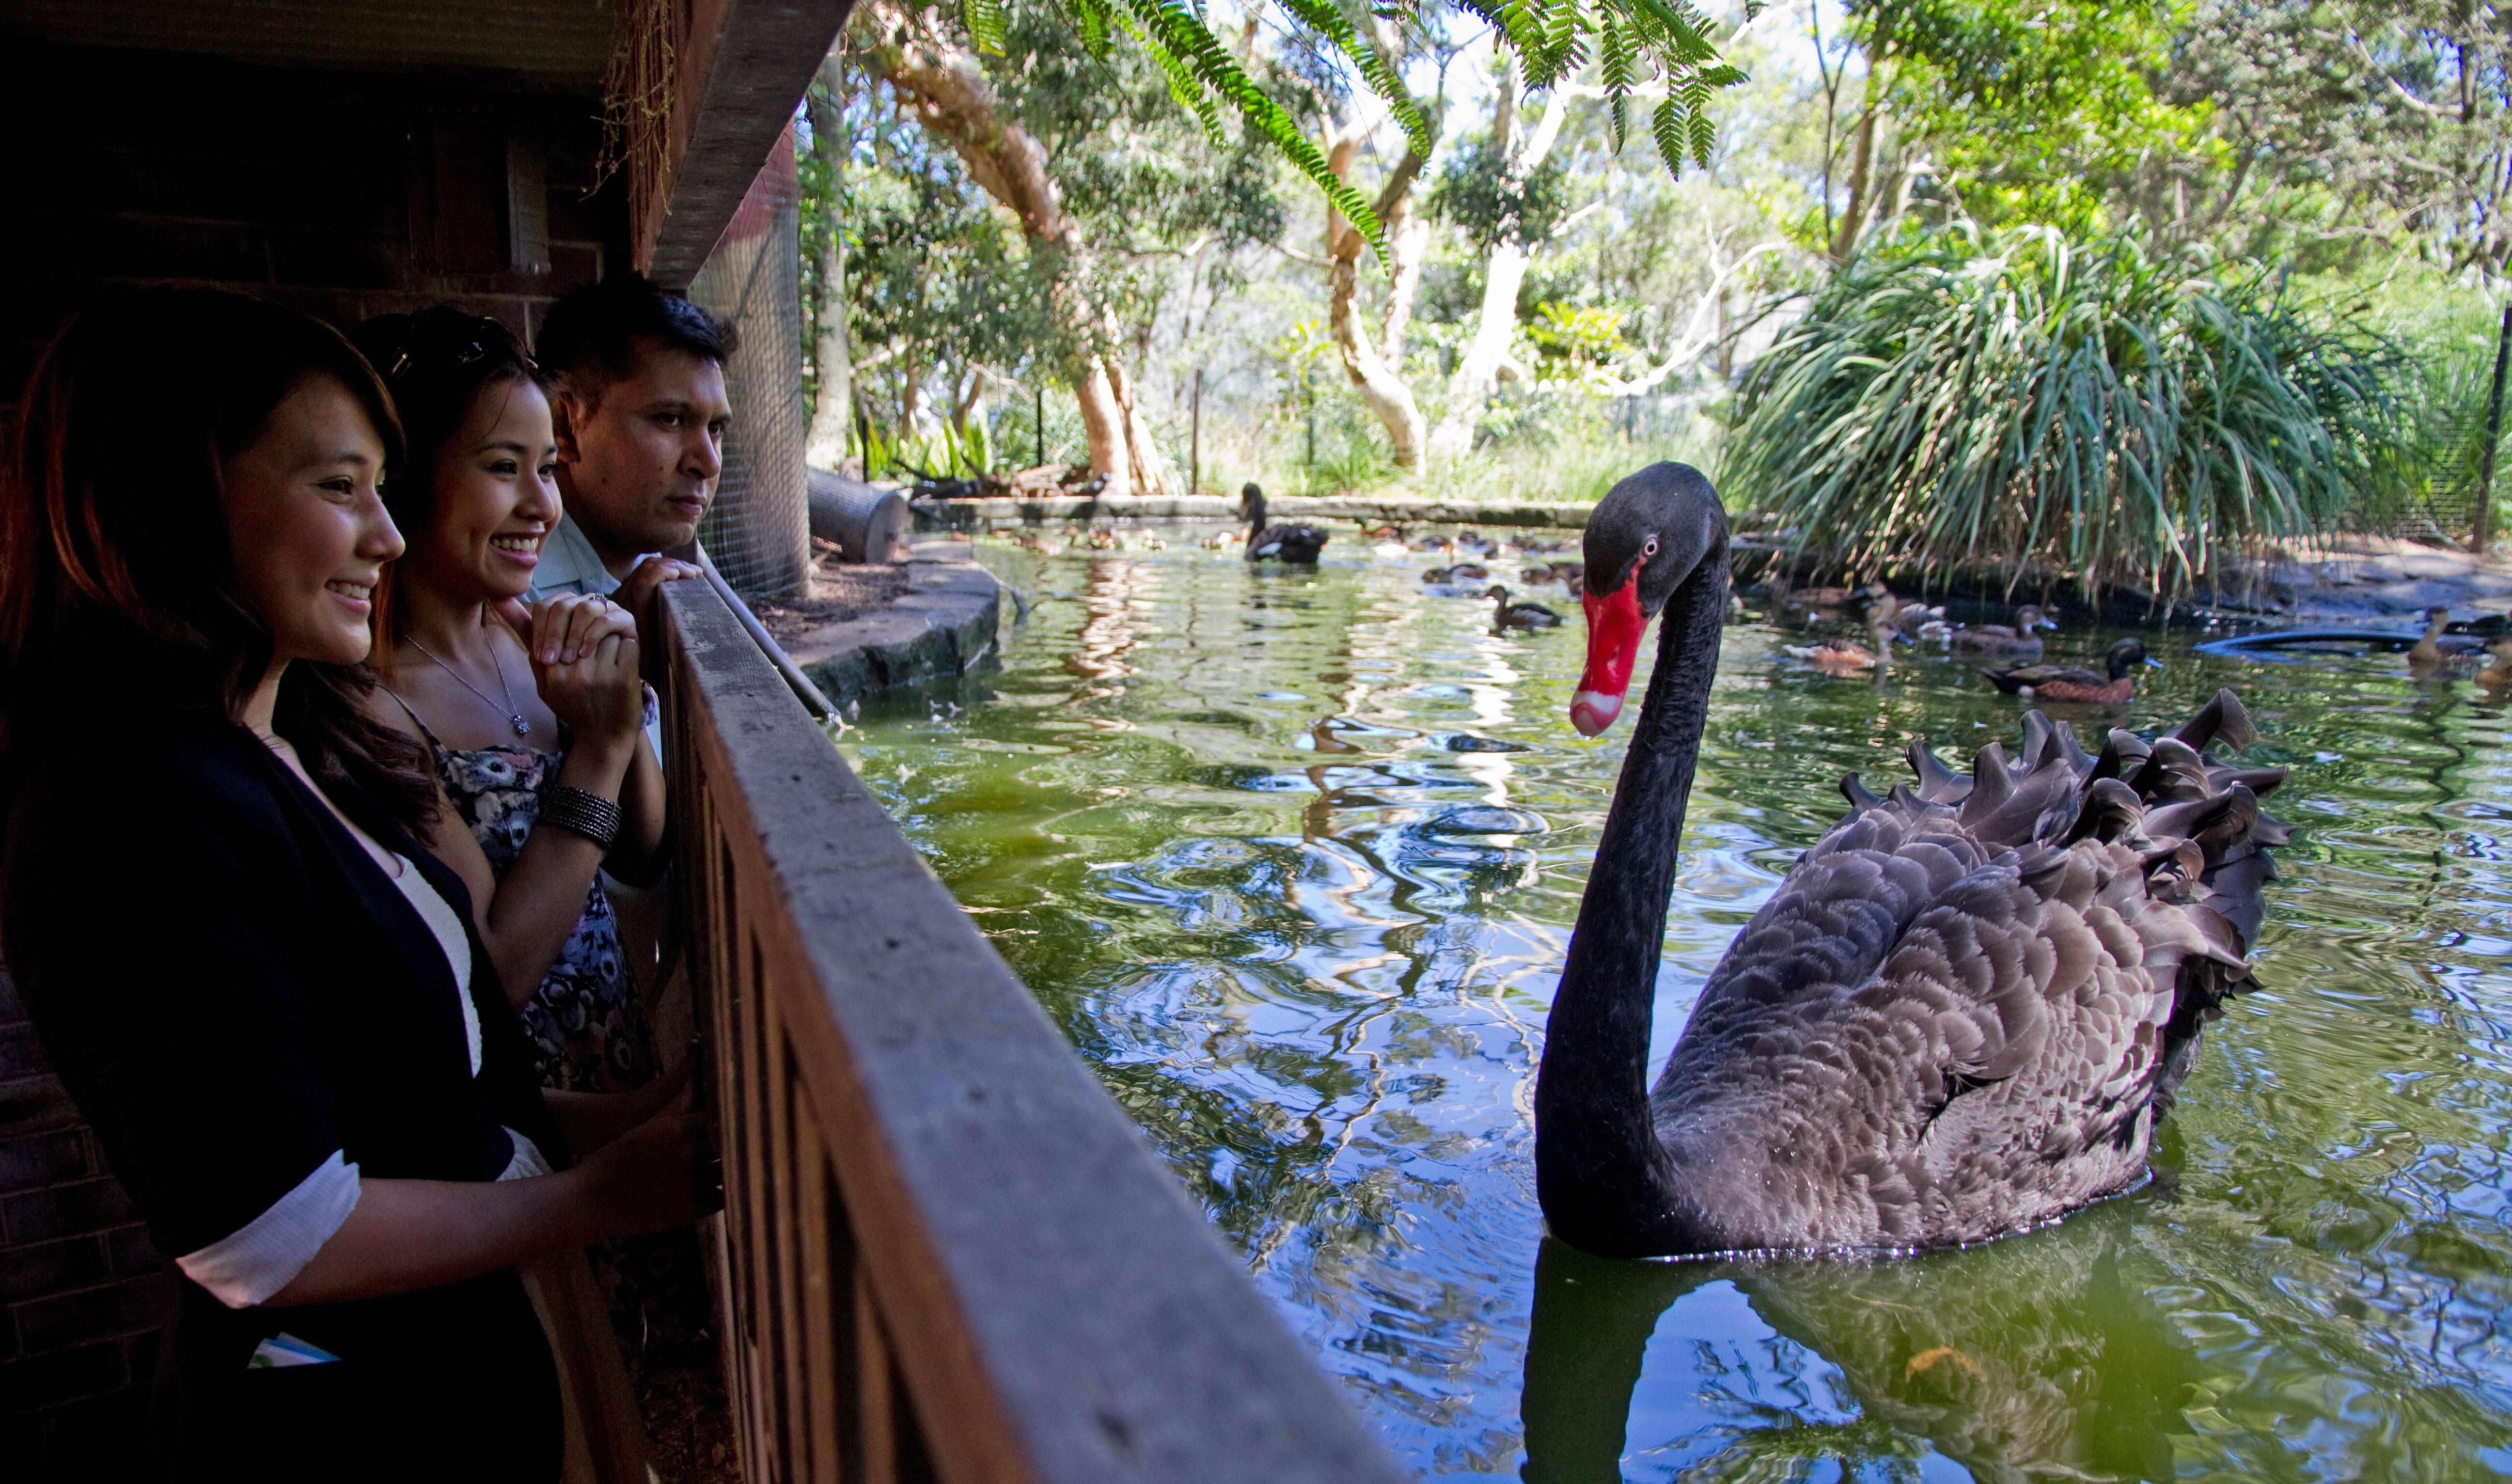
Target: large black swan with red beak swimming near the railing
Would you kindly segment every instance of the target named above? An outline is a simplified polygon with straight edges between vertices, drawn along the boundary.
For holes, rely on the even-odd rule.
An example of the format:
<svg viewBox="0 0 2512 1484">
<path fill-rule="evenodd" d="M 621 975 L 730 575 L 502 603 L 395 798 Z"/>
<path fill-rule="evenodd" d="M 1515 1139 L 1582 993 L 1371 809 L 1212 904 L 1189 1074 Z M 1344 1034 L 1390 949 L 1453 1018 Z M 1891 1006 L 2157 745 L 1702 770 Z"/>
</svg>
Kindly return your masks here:
<svg viewBox="0 0 2512 1484">
<path fill-rule="evenodd" d="M 2145 1173 L 2155 1120 L 2246 952 L 2283 829 L 2278 768 L 2231 693 L 2100 756 L 2025 716 L 1972 773 L 1912 748 L 1919 786 L 1841 788 L 1849 816 L 1753 914 L 1655 1087 L 1648 1022 L 1683 806 L 1726 618 L 1726 512 L 1655 465 L 1588 522 L 1588 668 L 1570 721 L 1658 665 L 1580 899 L 1535 1080 L 1535 1188 L 1603 1255 L 1924 1248 L 2047 1223 Z"/>
</svg>

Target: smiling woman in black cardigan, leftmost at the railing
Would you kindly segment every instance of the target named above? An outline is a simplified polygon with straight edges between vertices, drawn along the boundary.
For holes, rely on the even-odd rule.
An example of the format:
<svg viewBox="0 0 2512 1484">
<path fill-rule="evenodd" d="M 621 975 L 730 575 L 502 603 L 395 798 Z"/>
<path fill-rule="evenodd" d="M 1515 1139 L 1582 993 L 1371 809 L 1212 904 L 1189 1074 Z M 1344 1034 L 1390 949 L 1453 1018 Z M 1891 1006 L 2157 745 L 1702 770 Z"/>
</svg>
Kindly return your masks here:
<svg viewBox="0 0 2512 1484">
<path fill-rule="evenodd" d="M 543 1092 L 412 839 L 427 761 L 357 668 L 384 392 L 294 311 L 146 291 L 20 407 L 0 952 L 181 1273 L 156 1474 L 555 1479 L 515 1263 L 693 1220 L 711 1135 L 671 1082 Z"/>
</svg>

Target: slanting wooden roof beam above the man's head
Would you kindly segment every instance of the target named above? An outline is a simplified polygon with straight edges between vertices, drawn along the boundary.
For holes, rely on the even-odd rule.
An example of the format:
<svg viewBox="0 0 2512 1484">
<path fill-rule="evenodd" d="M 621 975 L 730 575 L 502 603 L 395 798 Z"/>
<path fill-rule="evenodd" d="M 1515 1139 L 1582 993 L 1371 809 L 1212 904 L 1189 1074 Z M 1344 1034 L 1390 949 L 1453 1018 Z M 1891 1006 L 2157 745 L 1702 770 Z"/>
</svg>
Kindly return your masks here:
<svg viewBox="0 0 2512 1484">
<path fill-rule="evenodd" d="M 686 289 L 741 208 L 854 0 L 696 0 L 673 60 L 671 148 L 636 266 Z"/>
</svg>

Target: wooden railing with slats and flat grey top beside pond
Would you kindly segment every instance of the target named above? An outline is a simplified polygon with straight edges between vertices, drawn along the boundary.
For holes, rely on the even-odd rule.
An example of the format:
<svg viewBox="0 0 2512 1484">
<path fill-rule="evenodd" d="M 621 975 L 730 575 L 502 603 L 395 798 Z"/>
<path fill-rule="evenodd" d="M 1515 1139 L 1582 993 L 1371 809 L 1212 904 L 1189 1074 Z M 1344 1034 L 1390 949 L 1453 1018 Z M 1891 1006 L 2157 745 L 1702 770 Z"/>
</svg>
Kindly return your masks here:
<svg viewBox="0 0 2512 1484">
<path fill-rule="evenodd" d="M 663 595 L 751 1484 L 1399 1479 L 723 600 Z"/>
</svg>

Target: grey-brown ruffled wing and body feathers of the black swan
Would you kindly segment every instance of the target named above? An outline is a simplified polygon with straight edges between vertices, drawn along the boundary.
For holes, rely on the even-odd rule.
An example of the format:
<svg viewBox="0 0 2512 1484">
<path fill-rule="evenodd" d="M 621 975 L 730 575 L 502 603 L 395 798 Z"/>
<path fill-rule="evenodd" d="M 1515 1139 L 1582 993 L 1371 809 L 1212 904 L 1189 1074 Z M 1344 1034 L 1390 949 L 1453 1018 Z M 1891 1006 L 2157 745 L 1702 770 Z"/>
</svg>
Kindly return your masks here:
<svg viewBox="0 0 2512 1484">
<path fill-rule="evenodd" d="M 2231 693 L 2085 753 L 2025 716 L 1809 849 L 1711 974 L 1658 1080 L 1660 1143 L 1733 1245 L 1997 1235 L 2118 1190 L 2198 1032 L 2248 979 L 2281 768 Z"/>
</svg>

